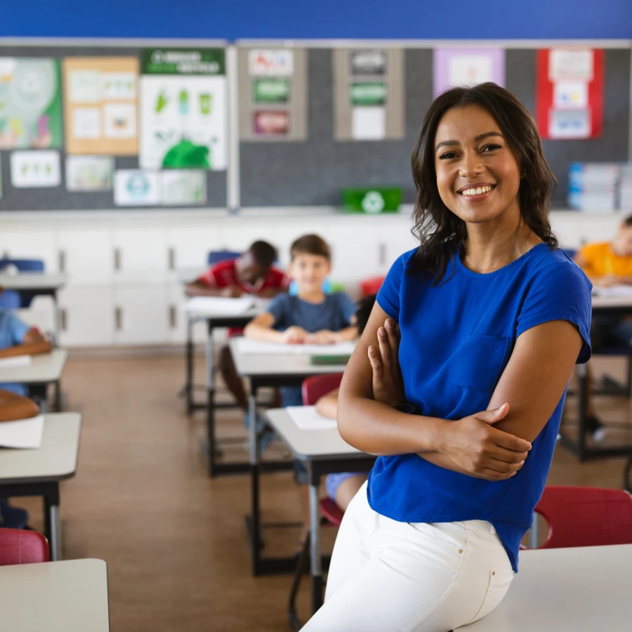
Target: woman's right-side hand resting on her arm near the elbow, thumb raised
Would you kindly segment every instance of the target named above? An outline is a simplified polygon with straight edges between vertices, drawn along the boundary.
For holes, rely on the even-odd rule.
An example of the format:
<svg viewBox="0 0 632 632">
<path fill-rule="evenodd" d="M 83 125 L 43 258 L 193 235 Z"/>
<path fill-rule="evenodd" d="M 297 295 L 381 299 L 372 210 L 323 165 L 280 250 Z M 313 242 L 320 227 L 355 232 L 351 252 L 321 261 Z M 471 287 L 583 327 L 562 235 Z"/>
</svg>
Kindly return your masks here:
<svg viewBox="0 0 632 632">
<path fill-rule="evenodd" d="M 487 480 L 511 478 L 525 464 L 531 444 L 493 427 L 508 411 L 509 404 L 503 404 L 452 421 L 440 452 L 470 476 Z"/>
</svg>

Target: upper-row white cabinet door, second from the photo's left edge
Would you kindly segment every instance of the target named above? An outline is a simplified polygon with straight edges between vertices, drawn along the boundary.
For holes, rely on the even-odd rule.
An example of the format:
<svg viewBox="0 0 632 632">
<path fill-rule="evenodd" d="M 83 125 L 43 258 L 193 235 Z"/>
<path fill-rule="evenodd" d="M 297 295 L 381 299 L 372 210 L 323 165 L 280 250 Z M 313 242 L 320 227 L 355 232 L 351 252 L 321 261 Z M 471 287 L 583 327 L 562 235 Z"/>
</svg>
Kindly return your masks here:
<svg viewBox="0 0 632 632">
<path fill-rule="evenodd" d="M 105 227 L 60 229 L 59 268 L 69 283 L 109 284 L 112 282 L 112 235 Z"/>
</svg>

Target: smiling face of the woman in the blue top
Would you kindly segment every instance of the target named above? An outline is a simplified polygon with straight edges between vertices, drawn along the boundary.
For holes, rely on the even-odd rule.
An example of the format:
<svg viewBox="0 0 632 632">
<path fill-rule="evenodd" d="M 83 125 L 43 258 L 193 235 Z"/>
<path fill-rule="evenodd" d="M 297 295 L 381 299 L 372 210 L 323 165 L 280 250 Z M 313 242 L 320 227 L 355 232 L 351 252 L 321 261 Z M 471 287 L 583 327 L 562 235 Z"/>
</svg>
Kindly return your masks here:
<svg viewBox="0 0 632 632">
<path fill-rule="evenodd" d="M 463 221 L 520 214 L 520 166 L 484 108 L 466 105 L 444 114 L 435 136 L 435 171 L 443 203 Z"/>
</svg>

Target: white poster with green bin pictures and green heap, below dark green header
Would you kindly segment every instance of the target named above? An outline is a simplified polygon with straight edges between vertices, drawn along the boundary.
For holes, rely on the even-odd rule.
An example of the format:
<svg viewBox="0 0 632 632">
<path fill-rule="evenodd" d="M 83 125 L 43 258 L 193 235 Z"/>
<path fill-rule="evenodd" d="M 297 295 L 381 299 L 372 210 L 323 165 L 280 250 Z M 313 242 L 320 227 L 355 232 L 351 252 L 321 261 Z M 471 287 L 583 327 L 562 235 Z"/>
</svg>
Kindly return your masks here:
<svg viewBox="0 0 632 632">
<path fill-rule="evenodd" d="M 226 80 L 223 75 L 143 75 L 140 166 L 226 169 Z"/>
</svg>

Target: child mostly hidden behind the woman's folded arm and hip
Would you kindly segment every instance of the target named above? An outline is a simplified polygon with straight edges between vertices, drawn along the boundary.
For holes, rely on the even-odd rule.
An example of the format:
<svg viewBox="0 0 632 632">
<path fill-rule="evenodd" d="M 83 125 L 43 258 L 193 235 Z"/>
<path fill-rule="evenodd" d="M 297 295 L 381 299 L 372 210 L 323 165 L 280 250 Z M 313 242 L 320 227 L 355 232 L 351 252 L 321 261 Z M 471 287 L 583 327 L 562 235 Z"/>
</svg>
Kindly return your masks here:
<svg viewBox="0 0 632 632">
<path fill-rule="evenodd" d="M 357 333 L 362 336 L 364 327 L 367 326 L 369 315 L 375 304 L 375 294 L 365 296 L 357 305 L 355 312 L 355 326 L 357 327 Z M 378 375 L 374 376 L 374 383 L 378 379 Z M 338 388 L 335 388 L 331 392 L 320 397 L 316 402 L 316 410 L 325 417 L 331 417 L 336 419 L 338 414 Z M 375 391 L 375 388 L 374 388 Z M 376 396 L 379 400 L 379 397 Z M 343 511 L 346 510 L 353 496 L 357 494 L 358 490 L 367 480 L 367 475 L 364 472 L 340 472 L 336 474 L 329 474 L 325 478 L 325 489 L 327 489 L 327 496 L 331 500 L 335 501 L 338 507 Z"/>
</svg>

